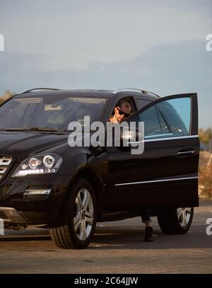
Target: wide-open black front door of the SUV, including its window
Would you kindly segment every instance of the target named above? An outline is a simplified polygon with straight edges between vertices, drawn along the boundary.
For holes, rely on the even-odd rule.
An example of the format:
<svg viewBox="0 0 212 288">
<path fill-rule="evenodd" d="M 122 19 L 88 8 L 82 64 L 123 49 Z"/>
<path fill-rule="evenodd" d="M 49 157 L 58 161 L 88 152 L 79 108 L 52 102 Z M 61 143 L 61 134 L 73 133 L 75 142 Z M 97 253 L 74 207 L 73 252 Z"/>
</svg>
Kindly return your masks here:
<svg viewBox="0 0 212 288">
<path fill-rule="evenodd" d="M 114 184 L 123 209 L 195 207 L 198 198 L 198 108 L 194 93 L 154 100 L 129 117 L 144 122 L 143 154 L 126 151 L 127 178 Z"/>
</svg>

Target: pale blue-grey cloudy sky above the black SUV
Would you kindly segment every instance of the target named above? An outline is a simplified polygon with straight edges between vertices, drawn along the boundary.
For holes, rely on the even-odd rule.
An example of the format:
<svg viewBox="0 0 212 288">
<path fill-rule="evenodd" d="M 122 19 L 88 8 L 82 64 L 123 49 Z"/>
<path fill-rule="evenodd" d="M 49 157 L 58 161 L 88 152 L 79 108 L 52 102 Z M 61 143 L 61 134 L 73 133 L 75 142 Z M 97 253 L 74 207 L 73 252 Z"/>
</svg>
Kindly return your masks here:
<svg viewBox="0 0 212 288">
<path fill-rule="evenodd" d="M 6 89 L 136 87 L 197 92 L 212 127 L 212 1 L 0 0 Z"/>
</svg>

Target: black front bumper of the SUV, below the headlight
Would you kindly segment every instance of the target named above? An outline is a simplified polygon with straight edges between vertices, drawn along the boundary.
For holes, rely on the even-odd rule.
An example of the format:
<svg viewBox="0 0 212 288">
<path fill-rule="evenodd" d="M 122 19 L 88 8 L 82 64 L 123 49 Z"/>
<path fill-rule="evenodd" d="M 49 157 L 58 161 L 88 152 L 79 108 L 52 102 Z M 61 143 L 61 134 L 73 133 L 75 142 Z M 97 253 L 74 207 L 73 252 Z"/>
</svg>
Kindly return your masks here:
<svg viewBox="0 0 212 288">
<path fill-rule="evenodd" d="M 0 183 L 0 218 L 11 224 L 51 224 L 57 220 L 69 189 L 70 175 L 6 177 Z M 49 195 L 24 195 L 29 188 L 49 188 Z"/>
</svg>

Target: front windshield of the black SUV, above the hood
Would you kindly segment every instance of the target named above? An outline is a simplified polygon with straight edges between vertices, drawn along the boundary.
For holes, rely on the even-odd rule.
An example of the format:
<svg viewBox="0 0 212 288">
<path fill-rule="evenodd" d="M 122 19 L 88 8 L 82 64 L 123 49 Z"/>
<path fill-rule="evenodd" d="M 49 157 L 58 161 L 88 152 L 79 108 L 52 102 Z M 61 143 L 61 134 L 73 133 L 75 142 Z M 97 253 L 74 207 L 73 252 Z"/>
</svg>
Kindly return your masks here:
<svg viewBox="0 0 212 288">
<path fill-rule="evenodd" d="M 106 98 L 14 96 L 0 107 L 0 129 L 45 127 L 67 131 L 69 123 L 99 120 Z"/>
</svg>

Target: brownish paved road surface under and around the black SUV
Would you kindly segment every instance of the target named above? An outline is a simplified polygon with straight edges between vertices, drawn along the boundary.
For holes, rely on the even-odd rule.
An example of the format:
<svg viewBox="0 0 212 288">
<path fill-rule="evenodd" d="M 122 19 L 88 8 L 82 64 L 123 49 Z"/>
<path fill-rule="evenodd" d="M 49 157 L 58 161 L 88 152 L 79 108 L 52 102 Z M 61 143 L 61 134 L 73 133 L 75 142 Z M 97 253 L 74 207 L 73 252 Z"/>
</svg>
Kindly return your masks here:
<svg viewBox="0 0 212 288">
<path fill-rule="evenodd" d="M 55 247 L 46 229 L 6 230 L 0 236 L 0 273 L 211 273 L 208 218 L 212 201 L 201 200 L 187 234 L 164 235 L 155 219 L 153 243 L 143 242 L 139 217 L 98 224 L 86 250 Z"/>
</svg>

